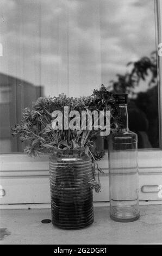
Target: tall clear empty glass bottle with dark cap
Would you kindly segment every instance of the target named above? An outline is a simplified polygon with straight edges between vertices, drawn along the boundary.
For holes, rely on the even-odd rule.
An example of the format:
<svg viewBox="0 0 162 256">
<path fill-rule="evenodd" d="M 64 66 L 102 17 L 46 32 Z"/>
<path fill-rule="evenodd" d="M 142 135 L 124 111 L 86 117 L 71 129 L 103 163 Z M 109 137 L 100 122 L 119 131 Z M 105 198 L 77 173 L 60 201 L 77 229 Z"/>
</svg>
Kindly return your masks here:
<svg viewBox="0 0 162 256">
<path fill-rule="evenodd" d="M 119 129 L 109 136 L 110 217 L 118 222 L 138 220 L 138 137 L 128 129 L 127 94 L 116 94 Z"/>
</svg>

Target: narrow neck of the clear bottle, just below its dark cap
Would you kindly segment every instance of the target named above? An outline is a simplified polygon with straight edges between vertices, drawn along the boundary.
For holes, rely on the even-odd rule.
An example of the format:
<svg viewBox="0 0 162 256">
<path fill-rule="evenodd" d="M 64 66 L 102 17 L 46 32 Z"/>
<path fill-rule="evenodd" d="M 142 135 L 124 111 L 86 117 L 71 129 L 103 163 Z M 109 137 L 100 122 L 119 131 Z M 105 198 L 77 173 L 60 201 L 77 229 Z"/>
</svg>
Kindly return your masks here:
<svg viewBox="0 0 162 256">
<path fill-rule="evenodd" d="M 119 105 L 120 130 L 128 131 L 128 110 L 127 104 Z"/>
</svg>

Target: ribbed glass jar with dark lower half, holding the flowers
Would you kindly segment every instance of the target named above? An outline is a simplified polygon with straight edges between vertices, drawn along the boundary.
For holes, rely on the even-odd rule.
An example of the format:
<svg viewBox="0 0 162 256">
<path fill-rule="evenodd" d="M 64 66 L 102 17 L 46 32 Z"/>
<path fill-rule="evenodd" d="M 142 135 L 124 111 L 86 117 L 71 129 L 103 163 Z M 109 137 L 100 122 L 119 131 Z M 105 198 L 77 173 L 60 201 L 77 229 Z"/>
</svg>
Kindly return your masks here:
<svg viewBox="0 0 162 256">
<path fill-rule="evenodd" d="M 49 175 L 52 223 L 76 229 L 94 222 L 92 163 L 85 149 L 55 150 Z"/>
</svg>

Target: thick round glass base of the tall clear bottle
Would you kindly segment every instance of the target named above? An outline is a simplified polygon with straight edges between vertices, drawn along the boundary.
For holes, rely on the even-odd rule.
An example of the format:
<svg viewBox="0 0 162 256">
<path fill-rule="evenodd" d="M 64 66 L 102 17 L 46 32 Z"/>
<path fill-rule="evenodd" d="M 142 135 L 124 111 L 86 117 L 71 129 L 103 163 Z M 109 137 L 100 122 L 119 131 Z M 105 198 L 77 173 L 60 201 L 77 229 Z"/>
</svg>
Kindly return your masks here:
<svg viewBox="0 0 162 256">
<path fill-rule="evenodd" d="M 110 218 L 117 222 L 132 222 L 138 220 L 140 217 L 139 211 L 131 206 L 114 207 L 110 212 Z"/>
</svg>

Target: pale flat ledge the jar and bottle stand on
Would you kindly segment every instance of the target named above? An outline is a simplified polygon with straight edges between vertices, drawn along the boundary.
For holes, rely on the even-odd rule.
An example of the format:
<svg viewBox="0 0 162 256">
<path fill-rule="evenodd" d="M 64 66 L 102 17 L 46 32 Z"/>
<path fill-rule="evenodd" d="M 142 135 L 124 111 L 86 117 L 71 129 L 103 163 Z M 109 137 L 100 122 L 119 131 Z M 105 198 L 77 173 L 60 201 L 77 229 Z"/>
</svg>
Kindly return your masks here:
<svg viewBox="0 0 162 256">
<path fill-rule="evenodd" d="M 1 210 L 1 228 L 10 235 L 0 244 L 162 244 L 162 205 L 141 205 L 138 221 L 119 223 L 110 220 L 108 207 L 95 207 L 94 224 L 79 230 L 62 230 L 41 220 L 51 218 L 50 209 Z"/>
</svg>

